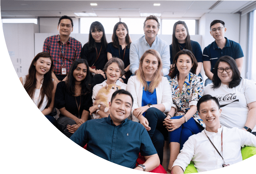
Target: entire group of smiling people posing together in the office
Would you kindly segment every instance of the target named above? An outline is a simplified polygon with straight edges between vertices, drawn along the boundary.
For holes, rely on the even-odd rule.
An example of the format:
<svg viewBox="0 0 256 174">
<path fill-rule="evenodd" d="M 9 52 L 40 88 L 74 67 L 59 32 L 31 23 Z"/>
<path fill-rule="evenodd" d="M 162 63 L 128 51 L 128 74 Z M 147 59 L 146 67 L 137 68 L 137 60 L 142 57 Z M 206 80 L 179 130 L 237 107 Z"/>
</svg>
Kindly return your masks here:
<svg viewBox="0 0 256 174">
<path fill-rule="evenodd" d="M 224 25 L 220 20 L 211 23 L 215 41 L 203 53 L 190 40 L 183 21 L 174 24 L 170 46 L 157 37 L 160 24 L 154 15 L 144 22 L 145 35 L 133 42 L 127 25 L 118 22 L 112 42 L 107 43 L 104 27 L 95 21 L 82 47 L 69 36 L 72 19 L 62 16 L 59 35 L 45 39 L 43 52 L 20 81 L 64 135 L 82 147 L 87 144 L 88 151 L 106 160 L 151 171 L 162 164 L 168 140 L 167 172 L 182 173 L 191 160 L 201 172 L 220 168 L 220 157 L 205 144 L 206 136 L 218 149 L 222 130 L 232 141 L 239 139 L 235 147 L 256 145 L 256 85 L 241 78 L 243 52 L 238 43 L 224 37 Z M 202 65 L 208 77 L 205 87 Z M 94 104 L 100 89 L 113 84 L 119 90 L 109 106 Z M 57 120 L 52 116 L 54 107 L 60 111 Z M 231 141 L 226 139 L 223 144 Z M 139 152 L 146 162 L 136 167 Z M 237 154 L 229 150 L 223 158 L 234 164 L 241 161 Z M 207 163 L 209 158 L 215 162 Z"/>
</svg>

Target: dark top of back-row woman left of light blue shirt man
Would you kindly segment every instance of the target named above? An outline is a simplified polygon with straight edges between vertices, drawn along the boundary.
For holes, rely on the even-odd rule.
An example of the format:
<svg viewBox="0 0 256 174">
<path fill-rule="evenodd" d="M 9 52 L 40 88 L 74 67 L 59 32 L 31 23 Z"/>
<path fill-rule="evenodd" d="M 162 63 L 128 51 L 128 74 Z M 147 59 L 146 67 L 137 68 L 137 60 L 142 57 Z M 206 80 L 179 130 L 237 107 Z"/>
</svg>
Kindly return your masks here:
<svg viewBox="0 0 256 174">
<path fill-rule="evenodd" d="M 107 52 L 111 53 L 113 57 L 118 57 L 121 60 L 123 60 L 124 64 L 125 64 L 125 68 L 130 64 L 130 47 L 123 49 L 122 50 L 122 46 L 119 45 L 119 50 L 120 50 L 120 55 L 119 55 L 119 51 L 118 48 L 113 46 L 113 42 L 108 43 L 108 47 L 107 47 Z M 124 56 L 124 51 L 125 51 L 125 56 Z"/>
</svg>

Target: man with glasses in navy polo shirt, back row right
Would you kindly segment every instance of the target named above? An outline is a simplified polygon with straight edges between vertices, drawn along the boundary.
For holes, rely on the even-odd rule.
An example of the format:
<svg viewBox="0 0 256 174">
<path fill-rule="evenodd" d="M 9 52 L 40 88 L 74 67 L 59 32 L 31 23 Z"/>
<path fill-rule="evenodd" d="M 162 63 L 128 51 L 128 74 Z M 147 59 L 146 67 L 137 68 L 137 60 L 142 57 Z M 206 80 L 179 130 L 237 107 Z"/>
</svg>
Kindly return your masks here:
<svg viewBox="0 0 256 174">
<path fill-rule="evenodd" d="M 224 37 L 226 31 L 225 23 L 221 20 L 214 20 L 210 24 L 210 34 L 215 41 L 203 51 L 203 66 L 205 75 L 208 77 L 205 80 L 205 86 L 212 82 L 214 65 L 221 56 L 230 56 L 235 59 L 240 73 L 242 72 L 244 57 L 242 48 L 240 44 Z"/>
</svg>

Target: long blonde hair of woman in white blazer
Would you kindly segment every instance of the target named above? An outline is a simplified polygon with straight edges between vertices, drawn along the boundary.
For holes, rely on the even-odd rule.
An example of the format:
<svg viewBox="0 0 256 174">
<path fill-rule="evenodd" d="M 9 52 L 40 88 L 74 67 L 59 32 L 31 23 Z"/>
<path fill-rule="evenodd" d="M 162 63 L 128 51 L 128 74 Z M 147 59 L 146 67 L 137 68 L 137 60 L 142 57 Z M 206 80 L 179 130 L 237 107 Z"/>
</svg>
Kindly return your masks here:
<svg viewBox="0 0 256 174">
<path fill-rule="evenodd" d="M 142 70 L 142 63 L 143 60 L 145 59 L 145 57 L 148 54 L 152 54 L 153 56 L 155 56 L 158 60 L 158 66 L 157 66 L 157 70 L 156 72 L 153 74 L 152 77 L 152 81 L 150 83 L 150 85 L 148 86 L 147 81 L 145 80 L 144 77 L 144 72 Z M 159 83 L 162 81 L 162 76 L 161 76 L 161 70 L 163 68 L 163 64 L 162 64 L 162 60 L 161 60 L 161 56 L 159 54 L 159 52 L 157 52 L 156 50 L 153 49 L 149 49 L 146 52 L 144 52 L 144 54 L 141 56 L 140 60 L 139 60 L 139 69 L 137 72 L 137 78 L 139 79 L 139 81 L 142 83 L 142 85 L 144 86 L 144 90 L 145 91 L 149 91 L 151 93 L 154 92 L 154 90 L 156 89 L 156 87 L 159 85 Z"/>
</svg>

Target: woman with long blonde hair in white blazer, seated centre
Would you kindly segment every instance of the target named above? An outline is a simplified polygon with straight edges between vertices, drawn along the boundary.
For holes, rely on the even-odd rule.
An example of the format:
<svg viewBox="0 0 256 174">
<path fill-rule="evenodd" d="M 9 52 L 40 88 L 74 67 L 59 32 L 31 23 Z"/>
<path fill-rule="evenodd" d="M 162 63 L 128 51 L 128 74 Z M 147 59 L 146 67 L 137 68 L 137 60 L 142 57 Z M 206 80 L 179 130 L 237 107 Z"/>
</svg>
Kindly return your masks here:
<svg viewBox="0 0 256 174">
<path fill-rule="evenodd" d="M 160 159 L 163 161 L 163 147 L 168 132 L 163 126 L 173 105 L 171 87 L 166 77 L 162 77 L 160 54 L 153 49 L 147 50 L 139 60 L 136 76 L 129 78 L 127 90 L 134 99 L 132 120 L 140 122 L 148 131 Z"/>
</svg>

